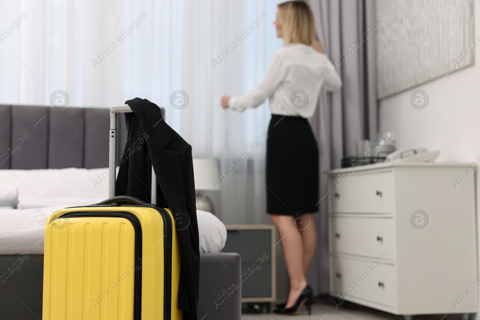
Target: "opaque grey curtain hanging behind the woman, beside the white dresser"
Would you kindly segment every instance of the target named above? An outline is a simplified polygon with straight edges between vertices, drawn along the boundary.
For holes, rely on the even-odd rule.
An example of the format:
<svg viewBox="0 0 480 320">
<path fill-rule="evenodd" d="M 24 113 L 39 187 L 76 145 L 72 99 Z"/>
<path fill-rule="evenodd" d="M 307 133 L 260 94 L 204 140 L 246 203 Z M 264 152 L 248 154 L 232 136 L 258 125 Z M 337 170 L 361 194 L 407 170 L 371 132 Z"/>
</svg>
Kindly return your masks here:
<svg viewBox="0 0 480 320">
<path fill-rule="evenodd" d="M 374 0 L 309 0 L 308 3 L 315 16 L 317 38 L 324 53 L 338 65 L 336 71 L 343 81 L 340 91 L 322 92 L 315 116 L 310 119 L 320 152 L 319 199 L 322 199 L 327 193 L 324 172 L 340 167 L 342 157 L 355 155 L 356 140 L 374 140 L 377 136 L 375 32 L 368 33 L 376 16 Z M 320 212 L 315 217 L 319 239 L 307 274 L 315 294 L 329 289 L 327 198 L 320 201 Z"/>
</svg>

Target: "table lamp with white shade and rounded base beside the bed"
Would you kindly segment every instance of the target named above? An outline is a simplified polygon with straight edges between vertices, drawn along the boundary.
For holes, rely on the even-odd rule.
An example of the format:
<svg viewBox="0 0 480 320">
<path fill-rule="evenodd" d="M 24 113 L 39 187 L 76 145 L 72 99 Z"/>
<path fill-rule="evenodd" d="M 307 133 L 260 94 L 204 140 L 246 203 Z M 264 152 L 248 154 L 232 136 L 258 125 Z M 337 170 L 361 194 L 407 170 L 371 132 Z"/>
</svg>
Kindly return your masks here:
<svg viewBox="0 0 480 320">
<path fill-rule="evenodd" d="M 195 202 L 197 209 L 215 214 L 212 200 L 208 197 L 211 190 L 220 190 L 221 186 L 215 187 L 212 180 L 218 180 L 218 164 L 215 159 L 193 158 L 193 178 L 195 179 Z"/>
</svg>

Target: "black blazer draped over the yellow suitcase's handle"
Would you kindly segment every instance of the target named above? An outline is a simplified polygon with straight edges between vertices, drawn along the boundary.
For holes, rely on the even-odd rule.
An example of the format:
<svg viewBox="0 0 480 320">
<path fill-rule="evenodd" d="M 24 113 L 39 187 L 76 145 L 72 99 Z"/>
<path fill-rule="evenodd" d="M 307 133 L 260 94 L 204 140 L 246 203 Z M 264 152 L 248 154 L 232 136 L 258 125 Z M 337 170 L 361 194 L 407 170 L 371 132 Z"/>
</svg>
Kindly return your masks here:
<svg viewBox="0 0 480 320">
<path fill-rule="evenodd" d="M 193 181 L 192 146 L 162 119 L 160 108 L 146 100 L 125 102 L 128 138 L 121 157 L 116 194 L 151 202 L 151 167 L 158 181 L 158 205 L 175 218 L 180 243 L 179 305 L 184 320 L 197 319 L 199 245 Z"/>
</svg>

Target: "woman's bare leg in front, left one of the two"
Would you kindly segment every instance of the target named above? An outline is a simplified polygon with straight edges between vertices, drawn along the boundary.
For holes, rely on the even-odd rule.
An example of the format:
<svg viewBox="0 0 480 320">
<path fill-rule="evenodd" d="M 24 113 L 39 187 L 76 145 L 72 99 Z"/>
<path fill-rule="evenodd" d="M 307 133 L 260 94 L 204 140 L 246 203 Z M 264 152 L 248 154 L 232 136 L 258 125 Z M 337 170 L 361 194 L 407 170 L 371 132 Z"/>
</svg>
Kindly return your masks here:
<svg viewBox="0 0 480 320">
<path fill-rule="evenodd" d="M 292 216 L 270 214 L 270 217 L 278 229 L 280 239 L 282 239 L 280 242 L 287 264 L 288 277 L 290 278 L 290 291 L 285 308 L 291 308 L 307 285 L 303 271 L 303 241 Z"/>
</svg>

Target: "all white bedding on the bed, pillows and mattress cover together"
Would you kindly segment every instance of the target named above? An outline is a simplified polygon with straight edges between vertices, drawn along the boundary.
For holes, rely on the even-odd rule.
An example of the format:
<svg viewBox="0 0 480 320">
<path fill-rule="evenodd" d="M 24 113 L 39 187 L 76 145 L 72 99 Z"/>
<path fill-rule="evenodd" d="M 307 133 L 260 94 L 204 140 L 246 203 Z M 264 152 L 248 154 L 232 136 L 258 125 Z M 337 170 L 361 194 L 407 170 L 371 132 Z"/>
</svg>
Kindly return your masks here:
<svg viewBox="0 0 480 320">
<path fill-rule="evenodd" d="M 117 171 L 118 172 L 118 171 Z M 18 209 L 0 208 L 0 254 L 43 254 L 45 222 L 56 210 L 108 198 L 108 168 L 0 170 L 0 187 L 17 187 Z M 197 211 L 200 252 L 220 252 L 225 225 Z"/>
</svg>

